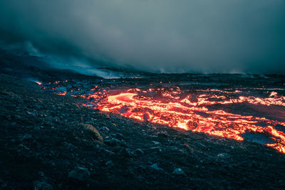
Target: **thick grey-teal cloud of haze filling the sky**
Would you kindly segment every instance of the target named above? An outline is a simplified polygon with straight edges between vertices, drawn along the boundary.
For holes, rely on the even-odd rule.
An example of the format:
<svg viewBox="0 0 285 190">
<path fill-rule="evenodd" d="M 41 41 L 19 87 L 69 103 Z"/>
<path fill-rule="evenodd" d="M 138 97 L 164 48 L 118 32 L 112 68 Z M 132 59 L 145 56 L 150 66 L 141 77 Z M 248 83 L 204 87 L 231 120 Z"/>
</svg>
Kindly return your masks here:
<svg viewBox="0 0 285 190">
<path fill-rule="evenodd" d="M 1 0 L 0 18 L 6 40 L 123 67 L 285 71 L 283 0 Z"/>
</svg>

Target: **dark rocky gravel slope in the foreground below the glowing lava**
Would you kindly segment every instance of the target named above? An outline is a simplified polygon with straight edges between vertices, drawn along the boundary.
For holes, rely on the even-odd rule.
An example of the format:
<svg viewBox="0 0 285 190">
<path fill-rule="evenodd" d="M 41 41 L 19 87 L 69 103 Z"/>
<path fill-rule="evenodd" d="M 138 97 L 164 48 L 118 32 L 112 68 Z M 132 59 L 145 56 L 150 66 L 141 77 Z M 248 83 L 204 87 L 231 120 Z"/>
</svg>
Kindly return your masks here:
<svg viewBox="0 0 285 190">
<path fill-rule="evenodd" d="M 9 75 L 0 85 L 3 189 L 285 188 L 270 147 L 90 110 Z"/>
</svg>

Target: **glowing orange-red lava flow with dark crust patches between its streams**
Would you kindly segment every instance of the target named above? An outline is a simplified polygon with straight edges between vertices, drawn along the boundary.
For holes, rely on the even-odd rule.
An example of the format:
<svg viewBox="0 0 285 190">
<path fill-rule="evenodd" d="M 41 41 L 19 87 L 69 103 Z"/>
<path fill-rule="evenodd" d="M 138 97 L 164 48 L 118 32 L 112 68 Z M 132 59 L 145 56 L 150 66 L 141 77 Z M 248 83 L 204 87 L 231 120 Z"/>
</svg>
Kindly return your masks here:
<svg viewBox="0 0 285 190">
<path fill-rule="evenodd" d="M 104 112 L 239 141 L 259 142 L 285 153 L 284 120 L 270 120 L 266 115 L 248 112 L 244 114 L 243 110 L 245 105 L 275 106 L 284 110 L 285 97 L 274 91 L 268 92 L 266 97 L 256 97 L 252 93 L 234 89 L 194 90 L 190 93 L 178 87 L 132 88 L 112 94 L 108 90 L 102 93 L 96 87 L 84 95 L 74 95 L 72 92 L 58 94 L 85 97 L 88 100 L 85 106 Z"/>
</svg>

